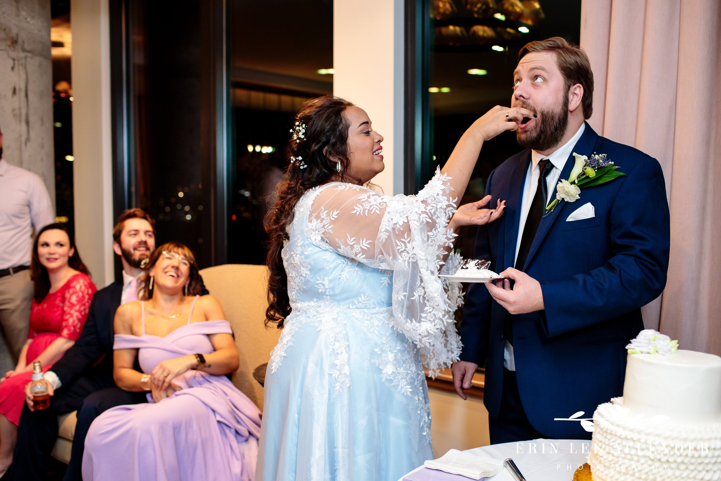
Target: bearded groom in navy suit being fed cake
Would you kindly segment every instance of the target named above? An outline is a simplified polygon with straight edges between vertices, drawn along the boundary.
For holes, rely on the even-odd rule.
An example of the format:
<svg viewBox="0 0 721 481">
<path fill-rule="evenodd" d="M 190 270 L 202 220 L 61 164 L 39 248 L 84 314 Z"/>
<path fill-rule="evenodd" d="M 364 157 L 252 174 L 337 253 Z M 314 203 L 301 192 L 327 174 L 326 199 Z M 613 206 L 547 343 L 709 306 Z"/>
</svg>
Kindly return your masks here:
<svg viewBox="0 0 721 481">
<path fill-rule="evenodd" d="M 505 215 L 479 226 L 474 257 L 507 280 L 474 283 L 453 366 L 456 392 L 485 363 L 484 402 L 492 444 L 534 438 L 590 439 L 578 421 L 623 393 L 625 345 L 643 329 L 641 306 L 666 283 L 669 213 L 663 172 L 652 157 L 599 136 L 585 122 L 593 72 L 583 50 L 560 37 L 521 49 L 514 107 L 526 150 L 488 177 L 486 194 Z M 580 198 L 557 198 L 575 160 L 607 154 L 626 174 Z M 564 190 L 562 190 L 564 194 Z M 565 199 L 564 199 L 565 197 Z M 510 281 L 508 281 L 510 279 Z"/>
</svg>

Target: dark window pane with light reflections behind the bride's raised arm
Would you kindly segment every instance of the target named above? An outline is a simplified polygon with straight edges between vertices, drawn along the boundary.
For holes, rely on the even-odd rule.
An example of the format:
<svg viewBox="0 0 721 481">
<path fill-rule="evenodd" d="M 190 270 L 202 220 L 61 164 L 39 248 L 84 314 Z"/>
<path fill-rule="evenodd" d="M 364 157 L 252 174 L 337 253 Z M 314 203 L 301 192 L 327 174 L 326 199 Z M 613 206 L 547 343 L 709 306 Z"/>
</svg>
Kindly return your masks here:
<svg viewBox="0 0 721 481">
<path fill-rule="evenodd" d="M 432 35 L 428 58 L 428 180 L 466 128 L 494 105 L 510 105 L 518 51 L 529 40 L 580 37 L 580 0 L 430 0 L 425 5 Z M 488 175 L 521 151 L 516 134 L 487 142 L 461 203 L 479 200 Z M 456 247 L 472 257 L 475 228 L 461 229 Z"/>
</svg>

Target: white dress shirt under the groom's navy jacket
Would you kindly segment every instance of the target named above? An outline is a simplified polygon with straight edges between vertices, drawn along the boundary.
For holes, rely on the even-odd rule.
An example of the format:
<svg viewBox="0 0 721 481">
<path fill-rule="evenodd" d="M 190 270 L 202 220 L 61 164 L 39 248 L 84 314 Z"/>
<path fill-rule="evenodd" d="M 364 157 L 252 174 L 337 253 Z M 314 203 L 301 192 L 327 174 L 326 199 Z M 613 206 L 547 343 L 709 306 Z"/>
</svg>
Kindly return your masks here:
<svg viewBox="0 0 721 481">
<path fill-rule="evenodd" d="M 583 135 L 585 131 L 585 123 L 582 123 L 578 131 L 571 137 L 570 141 L 554 150 L 549 155 L 542 155 L 538 152 L 531 151 L 531 165 L 528 166 L 526 172 L 526 182 L 523 184 L 523 201 L 521 202 L 521 218 L 518 222 L 518 239 L 516 239 L 516 255 L 513 256 L 513 263 L 516 263 L 518 258 L 518 250 L 521 249 L 521 237 L 523 237 L 523 228 L 526 226 L 526 219 L 528 219 L 528 211 L 531 210 L 531 203 L 534 201 L 536 196 L 536 189 L 539 185 L 539 176 L 541 175 L 541 169 L 539 169 L 539 162 L 543 159 L 549 159 L 553 164 L 553 169 L 549 172 L 546 177 L 546 185 L 548 187 L 548 198 L 546 199 L 546 205 L 551 201 L 558 178 L 561 177 L 561 171 L 566 165 L 568 156 L 576 146 L 578 139 Z M 505 341 L 505 352 L 503 353 L 503 366 L 508 371 L 516 371 L 516 363 L 513 359 L 513 346 L 510 345 L 508 340 Z"/>
</svg>

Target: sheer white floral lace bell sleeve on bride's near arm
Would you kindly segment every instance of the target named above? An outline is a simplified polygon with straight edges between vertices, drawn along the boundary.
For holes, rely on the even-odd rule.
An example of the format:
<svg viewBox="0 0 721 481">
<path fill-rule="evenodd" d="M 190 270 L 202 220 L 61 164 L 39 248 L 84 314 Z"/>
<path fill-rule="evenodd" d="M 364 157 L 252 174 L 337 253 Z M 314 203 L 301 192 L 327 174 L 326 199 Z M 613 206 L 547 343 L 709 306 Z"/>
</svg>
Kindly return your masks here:
<svg viewBox="0 0 721 481">
<path fill-rule="evenodd" d="M 456 234 L 449 177 L 436 171 L 417 195 L 384 195 L 337 183 L 312 203 L 306 234 L 317 246 L 393 270 L 392 322 L 421 350 L 435 375 L 458 359 L 461 343 L 438 270 Z"/>
</svg>

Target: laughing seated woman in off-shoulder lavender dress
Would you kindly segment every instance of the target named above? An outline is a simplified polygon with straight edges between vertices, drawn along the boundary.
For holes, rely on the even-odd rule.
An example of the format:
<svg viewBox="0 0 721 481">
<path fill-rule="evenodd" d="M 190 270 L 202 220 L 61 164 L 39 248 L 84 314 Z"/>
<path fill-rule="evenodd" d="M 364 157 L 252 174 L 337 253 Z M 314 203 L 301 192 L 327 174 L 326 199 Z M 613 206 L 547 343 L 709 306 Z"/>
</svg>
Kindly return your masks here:
<svg viewBox="0 0 721 481">
<path fill-rule="evenodd" d="M 113 374 L 118 387 L 149 391 L 149 404 L 92 423 L 83 479 L 254 480 L 260 411 L 224 376 L 239 361 L 223 309 L 198 296 L 198 268 L 182 244 L 159 247 L 148 275 L 148 300 L 115 314 Z"/>
</svg>

